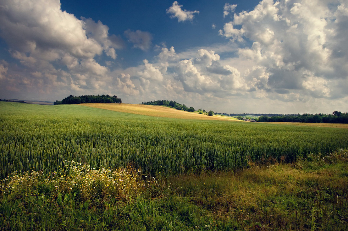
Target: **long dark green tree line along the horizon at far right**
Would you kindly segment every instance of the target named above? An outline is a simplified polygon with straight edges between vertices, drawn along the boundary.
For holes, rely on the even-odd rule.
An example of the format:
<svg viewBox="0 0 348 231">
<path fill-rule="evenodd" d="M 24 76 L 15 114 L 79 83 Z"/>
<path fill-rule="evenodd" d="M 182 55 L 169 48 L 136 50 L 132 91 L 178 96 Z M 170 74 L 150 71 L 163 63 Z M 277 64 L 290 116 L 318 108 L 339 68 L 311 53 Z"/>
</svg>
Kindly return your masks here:
<svg viewBox="0 0 348 231">
<path fill-rule="evenodd" d="M 348 124 L 348 113 L 334 111 L 332 114 L 297 114 L 295 116 L 260 116 L 258 122 L 300 122 L 300 123 L 327 123 Z"/>
</svg>

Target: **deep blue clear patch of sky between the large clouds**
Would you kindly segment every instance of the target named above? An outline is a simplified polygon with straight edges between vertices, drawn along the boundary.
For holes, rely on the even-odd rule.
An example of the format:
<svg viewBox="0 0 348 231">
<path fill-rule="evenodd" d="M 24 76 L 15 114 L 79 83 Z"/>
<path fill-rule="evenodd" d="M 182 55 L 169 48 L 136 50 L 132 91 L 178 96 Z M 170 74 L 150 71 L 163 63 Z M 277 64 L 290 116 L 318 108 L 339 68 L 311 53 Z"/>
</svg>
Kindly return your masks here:
<svg viewBox="0 0 348 231">
<path fill-rule="evenodd" d="M 192 47 L 210 46 L 215 43 L 224 43 L 226 39 L 219 36 L 219 29 L 230 21 L 230 17 L 223 17 L 223 1 L 183 1 L 187 10 L 198 10 L 192 20 L 178 23 L 166 13 L 174 1 L 105 1 L 100 4 L 95 1 L 61 1 L 61 9 L 74 14 L 77 18 L 92 18 L 100 20 L 109 27 L 109 33 L 124 36 L 124 31 L 146 31 L 152 34 L 152 47 L 161 44 L 175 47 L 176 51 L 185 51 Z M 259 1 L 240 1 L 238 8 L 253 9 Z M 182 5 L 181 2 L 178 3 Z M 217 27 L 212 28 L 215 24 Z M 132 44 L 126 43 L 127 49 L 118 51 L 120 58 L 126 59 L 124 65 L 142 63 L 144 58 L 151 59 L 157 55 L 155 49 L 146 53 L 141 50 L 131 50 Z"/>
</svg>

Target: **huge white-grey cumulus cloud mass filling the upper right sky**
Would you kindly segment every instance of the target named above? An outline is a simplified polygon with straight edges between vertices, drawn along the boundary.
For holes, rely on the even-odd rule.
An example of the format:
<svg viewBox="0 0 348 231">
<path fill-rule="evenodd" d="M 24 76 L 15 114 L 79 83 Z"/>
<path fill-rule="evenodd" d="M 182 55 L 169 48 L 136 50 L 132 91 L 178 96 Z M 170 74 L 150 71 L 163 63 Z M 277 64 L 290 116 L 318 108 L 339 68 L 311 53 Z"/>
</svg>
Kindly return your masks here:
<svg viewBox="0 0 348 231">
<path fill-rule="evenodd" d="M 244 78 L 251 89 L 286 101 L 298 100 L 298 94 L 337 98 L 345 95 L 334 89 L 348 78 L 347 24 L 343 0 L 263 0 L 236 13 L 220 35 L 239 42 L 238 59 L 250 61 Z M 252 46 L 245 47 L 246 41 Z"/>
</svg>

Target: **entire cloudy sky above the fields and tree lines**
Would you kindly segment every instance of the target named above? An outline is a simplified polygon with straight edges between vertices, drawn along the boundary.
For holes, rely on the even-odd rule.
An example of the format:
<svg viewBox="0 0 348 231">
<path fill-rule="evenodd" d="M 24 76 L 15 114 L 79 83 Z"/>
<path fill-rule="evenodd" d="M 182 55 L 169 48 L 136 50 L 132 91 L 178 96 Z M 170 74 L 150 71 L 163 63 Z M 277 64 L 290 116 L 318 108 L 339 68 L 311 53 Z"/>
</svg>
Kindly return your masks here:
<svg viewBox="0 0 348 231">
<path fill-rule="evenodd" d="M 0 0 L 0 98 L 348 111 L 347 0 Z"/>
</svg>

